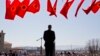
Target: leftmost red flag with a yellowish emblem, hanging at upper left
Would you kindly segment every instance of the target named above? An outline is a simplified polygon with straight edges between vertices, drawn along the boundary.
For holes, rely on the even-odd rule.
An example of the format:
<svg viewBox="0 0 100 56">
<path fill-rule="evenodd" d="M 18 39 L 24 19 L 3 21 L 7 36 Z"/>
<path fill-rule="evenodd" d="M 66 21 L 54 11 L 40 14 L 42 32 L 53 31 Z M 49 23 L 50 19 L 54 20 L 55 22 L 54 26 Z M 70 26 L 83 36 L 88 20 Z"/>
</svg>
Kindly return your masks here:
<svg viewBox="0 0 100 56">
<path fill-rule="evenodd" d="M 16 10 L 17 10 L 17 7 L 18 7 L 19 3 L 20 2 L 18 0 L 14 0 L 12 2 L 12 4 L 10 4 L 10 0 L 6 0 L 6 15 L 5 15 L 5 19 L 14 20 L 14 17 L 16 15 Z"/>
</svg>

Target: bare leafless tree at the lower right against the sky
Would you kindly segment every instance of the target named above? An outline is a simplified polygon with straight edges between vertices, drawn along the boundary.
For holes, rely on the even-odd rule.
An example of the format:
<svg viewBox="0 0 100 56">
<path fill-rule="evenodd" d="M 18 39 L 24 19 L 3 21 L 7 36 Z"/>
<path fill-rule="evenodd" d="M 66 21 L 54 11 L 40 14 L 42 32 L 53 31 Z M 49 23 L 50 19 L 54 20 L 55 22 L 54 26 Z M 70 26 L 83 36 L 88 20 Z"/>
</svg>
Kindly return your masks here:
<svg viewBox="0 0 100 56">
<path fill-rule="evenodd" d="M 98 39 L 92 39 L 89 40 L 87 44 L 87 50 L 89 53 L 89 56 L 97 56 L 99 54 L 99 40 Z"/>
</svg>

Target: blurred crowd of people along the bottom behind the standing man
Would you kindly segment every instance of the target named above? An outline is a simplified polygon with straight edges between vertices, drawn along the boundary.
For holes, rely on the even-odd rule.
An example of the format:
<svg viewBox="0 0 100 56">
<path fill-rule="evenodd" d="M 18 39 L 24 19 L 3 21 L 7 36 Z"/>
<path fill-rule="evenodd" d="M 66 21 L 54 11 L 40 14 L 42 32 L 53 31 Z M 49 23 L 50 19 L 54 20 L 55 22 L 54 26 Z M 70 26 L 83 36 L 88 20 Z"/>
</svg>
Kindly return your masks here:
<svg viewBox="0 0 100 56">
<path fill-rule="evenodd" d="M 45 54 L 41 55 L 41 54 L 10 50 L 9 52 L 0 52 L 0 56 L 45 56 Z M 61 51 L 61 52 L 56 52 L 55 56 L 91 56 L 91 55 L 84 54 L 84 53 Z M 95 55 L 95 56 L 99 56 L 99 55 Z"/>
</svg>

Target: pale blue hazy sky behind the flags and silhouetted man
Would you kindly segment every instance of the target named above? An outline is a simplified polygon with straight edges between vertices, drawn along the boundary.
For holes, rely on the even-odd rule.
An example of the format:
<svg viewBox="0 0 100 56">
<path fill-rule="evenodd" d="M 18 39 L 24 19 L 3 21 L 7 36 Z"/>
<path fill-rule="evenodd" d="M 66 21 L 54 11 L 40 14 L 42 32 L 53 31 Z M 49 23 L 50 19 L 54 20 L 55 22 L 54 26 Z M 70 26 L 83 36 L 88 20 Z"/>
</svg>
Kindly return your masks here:
<svg viewBox="0 0 100 56">
<path fill-rule="evenodd" d="M 88 15 L 82 10 L 86 9 L 92 0 L 85 0 L 77 17 L 74 14 L 80 0 L 75 0 L 68 12 L 68 19 L 60 14 L 64 0 L 58 0 L 57 17 L 49 16 L 46 10 L 47 0 L 40 0 L 41 8 L 38 13 L 27 12 L 24 18 L 16 16 L 15 20 L 5 19 L 5 1 L 0 0 L 0 31 L 6 33 L 5 41 L 12 43 L 13 47 L 40 46 L 40 41 L 36 40 L 43 37 L 49 24 L 55 31 L 57 46 L 85 46 L 88 40 L 100 39 L 100 10 L 96 14 L 90 12 Z M 51 1 L 53 3 L 55 0 Z"/>
</svg>

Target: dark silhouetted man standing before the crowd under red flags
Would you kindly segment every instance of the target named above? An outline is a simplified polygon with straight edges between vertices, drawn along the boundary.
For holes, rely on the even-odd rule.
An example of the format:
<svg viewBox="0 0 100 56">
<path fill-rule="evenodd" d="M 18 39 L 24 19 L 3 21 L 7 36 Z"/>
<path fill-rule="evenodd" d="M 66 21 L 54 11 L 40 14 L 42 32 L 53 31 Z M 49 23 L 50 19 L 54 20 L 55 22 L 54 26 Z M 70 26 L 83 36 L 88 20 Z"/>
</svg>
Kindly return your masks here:
<svg viewBox="0 0 100 56">
<path fill-rule="evenodd" d="M 55 56 L 55 32 L 51 30 L 52 26 L 48 25 L 48 30 L 44 32 L 45 55 Z"/>
</svg>

